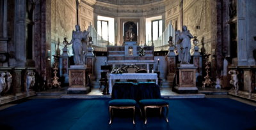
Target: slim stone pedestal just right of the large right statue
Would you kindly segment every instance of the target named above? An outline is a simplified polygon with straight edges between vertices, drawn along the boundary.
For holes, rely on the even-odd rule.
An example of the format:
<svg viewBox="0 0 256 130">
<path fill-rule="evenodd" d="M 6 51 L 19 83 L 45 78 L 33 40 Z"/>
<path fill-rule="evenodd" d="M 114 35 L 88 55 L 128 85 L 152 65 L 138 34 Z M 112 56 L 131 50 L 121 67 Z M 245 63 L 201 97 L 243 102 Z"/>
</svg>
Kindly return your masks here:
<svg viewBox="0 0 256 130">
<path fill-rule="evenodd" d="M 198 52 L 199 47 L 194 47 L 195 52 L 193 54 L 194 66 L 196 67 L 196 85 L 202 85 L 202 55 Z"/>
</svg>

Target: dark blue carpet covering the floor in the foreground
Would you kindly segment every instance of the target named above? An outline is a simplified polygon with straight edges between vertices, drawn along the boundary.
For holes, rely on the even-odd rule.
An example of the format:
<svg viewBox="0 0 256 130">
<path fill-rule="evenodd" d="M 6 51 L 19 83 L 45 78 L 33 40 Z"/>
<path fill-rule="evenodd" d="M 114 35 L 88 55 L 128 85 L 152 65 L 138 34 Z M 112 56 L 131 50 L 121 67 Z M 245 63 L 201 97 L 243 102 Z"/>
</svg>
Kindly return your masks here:
<svg viewBox="0 0 256 130">
<path fill-rule="evenodd" d="M 256 129 L 255 107 L 232 99 L 165 99 L 169 123 L 149 114 L 115 116 L 109 125 L 107 98 L 31 99 L 0 111 L 0 129 Z M 149 112 L 159 112 L 151 110 Z M 115 114 L 115 113 L 114 113 Z"/>
</svg>

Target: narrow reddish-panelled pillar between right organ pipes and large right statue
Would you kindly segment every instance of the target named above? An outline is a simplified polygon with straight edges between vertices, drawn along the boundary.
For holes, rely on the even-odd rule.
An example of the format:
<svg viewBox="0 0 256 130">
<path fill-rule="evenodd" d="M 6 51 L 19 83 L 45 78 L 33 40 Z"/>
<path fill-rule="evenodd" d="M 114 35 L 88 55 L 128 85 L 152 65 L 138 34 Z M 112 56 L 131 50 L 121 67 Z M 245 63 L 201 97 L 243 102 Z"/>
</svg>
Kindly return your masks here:
<svg viewBox="0 0 256 130">
<path fill-rule="evenodd" d="M 167 80 L 168 82 L 173 82 L 173 78 L 175 75 L 175 68 L 176 68 L 176 54 L 174 52 L 174 48 L 170 47 L 169 52 L 167 54 L 168 57 L 168 76 Z"/>
</svg>

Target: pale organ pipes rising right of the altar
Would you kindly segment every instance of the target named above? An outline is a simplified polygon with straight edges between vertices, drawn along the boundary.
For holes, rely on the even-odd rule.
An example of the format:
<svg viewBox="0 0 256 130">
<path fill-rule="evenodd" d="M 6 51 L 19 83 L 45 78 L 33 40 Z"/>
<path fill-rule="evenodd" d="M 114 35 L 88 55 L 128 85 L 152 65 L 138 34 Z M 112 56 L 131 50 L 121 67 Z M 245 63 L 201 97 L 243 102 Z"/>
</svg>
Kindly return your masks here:
<svg viewBox="0 0 256 130">
<path fill-rule="evenodd" d="M 169 48 L 169 43 L 168 43 L 169 36 L 172 36 L 173 41 L 175 41 L 175 30 L 174 30 L 173 25 L 171 24 L 171 22 L 165 28 L 162 36 L 159 36 L 159 38 L 157 38 L 157 40 L 153 41 L 154 47 L 155 47 L 154 50 L 155 51 L 168 50 L 168 48 Z"/>
</svg>

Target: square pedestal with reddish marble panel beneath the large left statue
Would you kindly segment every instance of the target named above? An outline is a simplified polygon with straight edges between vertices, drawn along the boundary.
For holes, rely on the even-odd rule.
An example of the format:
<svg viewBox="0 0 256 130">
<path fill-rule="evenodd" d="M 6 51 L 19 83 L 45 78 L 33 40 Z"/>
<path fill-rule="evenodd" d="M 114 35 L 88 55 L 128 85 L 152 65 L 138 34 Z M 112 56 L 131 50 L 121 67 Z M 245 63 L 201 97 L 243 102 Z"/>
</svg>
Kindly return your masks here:
<svg viewBox="0 0 256 130">
<path fill-rule="evenodd" d="M 91 91 L 90 87 L 86 86 L 87 71 L 86 66 L 75 65 L 70 66 L 69 70 L 69 87 L 68 94 L 87 94 Z"/>
</svg>

